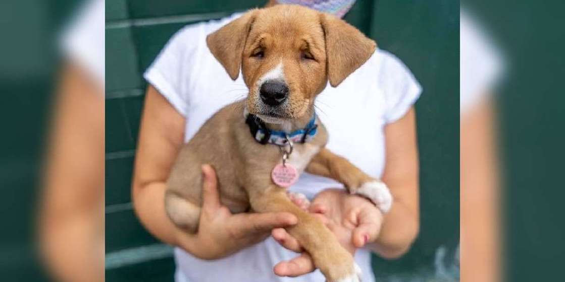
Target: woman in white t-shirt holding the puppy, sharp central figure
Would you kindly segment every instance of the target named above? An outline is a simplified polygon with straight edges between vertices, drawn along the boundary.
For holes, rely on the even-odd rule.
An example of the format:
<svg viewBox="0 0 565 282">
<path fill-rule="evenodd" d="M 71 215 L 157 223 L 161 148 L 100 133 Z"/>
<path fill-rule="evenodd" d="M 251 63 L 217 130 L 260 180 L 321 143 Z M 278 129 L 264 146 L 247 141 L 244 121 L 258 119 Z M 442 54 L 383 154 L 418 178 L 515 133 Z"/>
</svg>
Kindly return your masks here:
<svg viewBox="0 0 565 282">
<path fill-rule="evenodd" d="M 331 1 L 338 8 L 300 2 L 322 10 L 333 7 L 331 11 L 341 16 L 354 1 Z M 293 281 L 324 281 L 319 271 L 310 274 L 315 269 L 308 254 L 294 258 L 292 251 L 301 252 L 301 248 L 281 227 L 296 219 L 285 213 L 229 213 L 218 200 L 217 180 L 209 166 L 203 167 L 203 213 L 197 234 L 176 228 L 164 210 L 166 180 L 182 144 L 218 109 L 246 95 L 241 76 L 231 81 L 205 43 L 207 34 L 240 15 L 181 29 L 147 69 L 150 86 L 137 147 L 134 208 L 147 230 L 178 246 L 177 281 L 285 281 L 284 276 L 300 276 Z M 328 86 L 316 102 L 331 136 L 328 148 L 388 184 L 394 196 L 388 214 L 381 214 L 366 199 L 335 189 L 341 184 L 326 178 L 303 174 L 290 188 L 314 199 L 310 211 L 355 254 L 363 281 L 374 281 L 371 252 L 399 257 L 418 233 L 418 153 L 412 105 L 420 92 L 401 61 L 377 50 L 342 85 Z"/>
</svg>

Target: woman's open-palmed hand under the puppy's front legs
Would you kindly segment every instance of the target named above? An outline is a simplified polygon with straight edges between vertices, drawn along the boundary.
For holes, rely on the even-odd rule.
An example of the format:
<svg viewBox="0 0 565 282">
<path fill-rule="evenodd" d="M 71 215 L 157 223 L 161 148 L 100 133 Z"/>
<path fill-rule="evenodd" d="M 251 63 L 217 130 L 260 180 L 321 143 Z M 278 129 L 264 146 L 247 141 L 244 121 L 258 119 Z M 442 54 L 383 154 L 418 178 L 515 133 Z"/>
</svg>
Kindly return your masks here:
<svg viewBox="0 0 565 282">
<path fill-rule="evenodd" d="M 302 199 L 293 201 L 318 217 L 351 254 L 379 236 L 383 214 L 363 197 L 350 195 L 343 189 L 328 189 L 320 192 L 309 206 Z M 274 268 L 276 275 L 295 277 L 316 269 L 310 255 L 283 228 L 273 230 L 272 236 L 285 248 L 302 253 L 290 261 L 278 263 Z"/>
</svg>

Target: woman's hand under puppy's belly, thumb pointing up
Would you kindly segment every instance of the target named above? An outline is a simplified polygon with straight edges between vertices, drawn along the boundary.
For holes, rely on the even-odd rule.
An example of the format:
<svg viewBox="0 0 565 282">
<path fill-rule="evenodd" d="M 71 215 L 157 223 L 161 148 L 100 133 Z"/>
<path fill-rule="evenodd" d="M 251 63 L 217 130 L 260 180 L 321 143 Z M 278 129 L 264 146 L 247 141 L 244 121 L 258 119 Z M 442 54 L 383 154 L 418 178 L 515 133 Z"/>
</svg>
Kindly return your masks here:
<svg viewBox="0 0 565 282">
<path fill-rule="evenodd" d="M 221 205 L 214 169 L 202 166 L 202 211 L 198 233 L 177 232 L 177 243 L 203 259 L 217 259 L 266 239 L 273 228 L 292 226 L 298 219 L 290 213 L 232 214 Z"/>
</svg>

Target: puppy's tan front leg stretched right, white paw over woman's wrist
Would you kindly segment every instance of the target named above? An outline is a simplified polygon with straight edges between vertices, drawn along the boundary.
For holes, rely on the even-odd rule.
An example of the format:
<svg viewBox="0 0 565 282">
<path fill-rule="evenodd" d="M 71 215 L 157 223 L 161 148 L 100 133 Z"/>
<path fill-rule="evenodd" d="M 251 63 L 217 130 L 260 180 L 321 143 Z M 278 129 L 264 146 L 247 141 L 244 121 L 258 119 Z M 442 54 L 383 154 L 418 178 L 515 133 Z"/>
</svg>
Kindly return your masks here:
<svg viewBox="0 0 565 282">
<path fill-rule="evenodd" d="M 383 212 L 389 211 L 392 206 L 392 195 L 384 182 L 370 177 L 346 158 L 326 148 L 312 158 L 306 171 L 343 183 L 350 193 L 367 197 Z"/>
</svg>

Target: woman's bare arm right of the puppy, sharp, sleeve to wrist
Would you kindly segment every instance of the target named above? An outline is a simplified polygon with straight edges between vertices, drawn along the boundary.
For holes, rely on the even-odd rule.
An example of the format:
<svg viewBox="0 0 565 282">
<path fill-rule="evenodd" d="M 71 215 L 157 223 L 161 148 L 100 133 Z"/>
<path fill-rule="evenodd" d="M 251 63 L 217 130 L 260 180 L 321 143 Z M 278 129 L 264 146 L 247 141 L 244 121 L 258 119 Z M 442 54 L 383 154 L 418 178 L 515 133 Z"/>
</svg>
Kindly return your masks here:
<svg viewBox="0 0 565 282">
<path fill-rule="evenodd" d="M 385 127 L 386 162 L 382 180 L 394 203 L 385 214 L 379 237 L 368 245 L 385 258 L 406 253 L 419 231 L 418 144 L 414 107 Z"/>
</svg>

